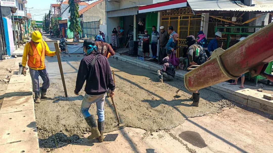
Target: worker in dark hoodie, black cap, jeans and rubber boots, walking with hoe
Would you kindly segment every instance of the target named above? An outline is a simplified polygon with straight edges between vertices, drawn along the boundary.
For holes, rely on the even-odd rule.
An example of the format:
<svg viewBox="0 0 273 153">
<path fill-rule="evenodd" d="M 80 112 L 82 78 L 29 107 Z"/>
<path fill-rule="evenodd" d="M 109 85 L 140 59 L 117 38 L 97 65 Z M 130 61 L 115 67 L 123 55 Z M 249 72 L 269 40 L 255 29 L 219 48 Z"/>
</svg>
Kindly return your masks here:
<svg viewBox="0 0 273 153">
<path fill-rule="evenodd" d="M 79 95 L 86 80 L 84 88 L 85 95 L 81 104 L 81 113 L 91 128 L 91 135 L 88 136 L 87 139 L 98 137 L 99 142 L 103 142 L 105 124 L 103 105 L 105 101 L 105 92 L 110 89 L 110 97 L 114 98 L 115 85 L 108 59 L 97 50 L 94 40 L 84 40 L 83 47 L 87 56 L 81 60 L 74 93 Z M 94 115 L 90 115 L 88 112 L 93 103 L 96 103 L 97 106 L 97 124 Z"/>
</svg>

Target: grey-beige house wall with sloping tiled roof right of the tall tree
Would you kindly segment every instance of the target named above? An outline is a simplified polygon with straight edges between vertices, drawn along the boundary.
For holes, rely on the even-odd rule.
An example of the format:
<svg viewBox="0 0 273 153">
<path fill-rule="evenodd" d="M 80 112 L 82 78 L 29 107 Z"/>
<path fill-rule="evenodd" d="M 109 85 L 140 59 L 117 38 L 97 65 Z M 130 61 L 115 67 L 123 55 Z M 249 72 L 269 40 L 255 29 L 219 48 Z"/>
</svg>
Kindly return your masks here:
<svg viewBox="0 0 273 153">
<path fill-rule="evenodd" d="M 102 24 L 106 24 L 105 0 L 98 0 L 87 5 L 79 11 L 81 21 L 91 22 L 102 20 Z"/>
</svg>

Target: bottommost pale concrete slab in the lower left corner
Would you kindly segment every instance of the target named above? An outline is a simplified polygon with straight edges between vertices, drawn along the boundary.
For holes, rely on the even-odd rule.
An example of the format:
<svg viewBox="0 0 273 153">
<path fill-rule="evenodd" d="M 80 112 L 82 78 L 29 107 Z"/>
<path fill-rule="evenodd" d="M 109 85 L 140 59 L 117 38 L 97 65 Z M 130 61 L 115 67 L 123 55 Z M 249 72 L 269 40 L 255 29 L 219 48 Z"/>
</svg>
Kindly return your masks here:
<svg viewBox="0 0 273 153">
<path fill-rule="evenodd" d="M 38 139 L 24 140 L 16 143 L 0 145 L 0 152 L 3 153 L 39 153 Z"/>
</svg>

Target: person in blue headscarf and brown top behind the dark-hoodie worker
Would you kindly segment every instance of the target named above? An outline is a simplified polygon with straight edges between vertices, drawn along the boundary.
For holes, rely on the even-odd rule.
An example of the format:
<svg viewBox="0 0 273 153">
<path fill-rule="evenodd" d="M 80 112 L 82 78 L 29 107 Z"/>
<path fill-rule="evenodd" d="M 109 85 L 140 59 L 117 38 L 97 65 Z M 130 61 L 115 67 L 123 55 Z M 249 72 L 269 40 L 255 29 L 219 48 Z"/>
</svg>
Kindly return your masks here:
<svg viewBox="0 0 273 153">
<path fill-rule="evenodd" d="M 100 54 L 102 54 L 103 56 L 107 58 L 109 58 L 110 55 L 111 56 L 115 55 L 115 52 L 112 49 L 112 47 L 108 43 L 104 42 L 102 35 L 97 35 L 95 40 L 96 40 L 95 43 L 97 46 L 97 50 L 100 52 Z"/>
</svg>

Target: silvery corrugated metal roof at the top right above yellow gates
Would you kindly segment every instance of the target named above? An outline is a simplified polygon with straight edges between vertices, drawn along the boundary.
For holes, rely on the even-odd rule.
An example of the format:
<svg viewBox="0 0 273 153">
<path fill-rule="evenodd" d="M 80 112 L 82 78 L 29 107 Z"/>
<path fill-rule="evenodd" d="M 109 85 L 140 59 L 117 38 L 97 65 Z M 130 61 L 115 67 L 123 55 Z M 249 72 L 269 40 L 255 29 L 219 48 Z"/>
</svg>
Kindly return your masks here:
<svg viewBox="0 0 273 153">
<path fill-rule="evenodd" d="M 273 5 L 247 6 L 241 1 L 227 0 L 188 0 L 193 11 L 246 11 L 246 12 L 272 12 Z"/>
</svg>

